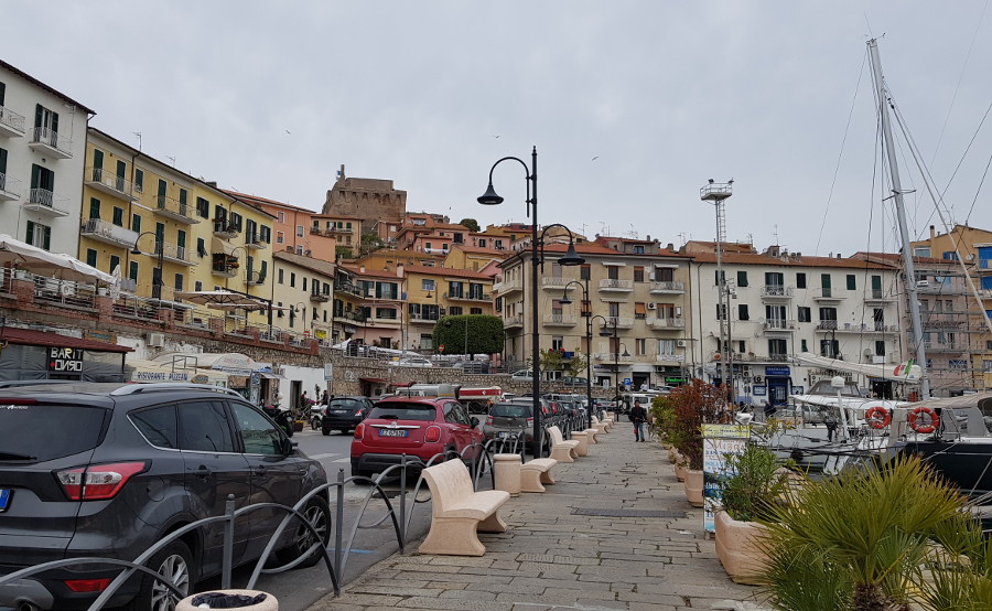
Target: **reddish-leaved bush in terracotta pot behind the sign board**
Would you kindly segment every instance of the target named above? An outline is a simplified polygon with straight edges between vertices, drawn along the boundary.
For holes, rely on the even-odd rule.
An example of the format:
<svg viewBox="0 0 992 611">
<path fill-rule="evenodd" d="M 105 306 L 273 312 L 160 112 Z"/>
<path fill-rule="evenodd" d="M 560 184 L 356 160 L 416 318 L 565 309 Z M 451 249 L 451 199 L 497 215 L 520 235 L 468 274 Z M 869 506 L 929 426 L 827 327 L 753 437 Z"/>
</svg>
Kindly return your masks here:
<svg viewBox="0 0 992 611">
<path fill-rule="evenodd" d="M 669 397 L 672 405 L 671 443 L 684 461 L 686 496 L 690 505 L 702 507 L 702 425 L 716 422 L 720 406 L 726 401 L 726 390 L 694 378 Z"/>
</svg>

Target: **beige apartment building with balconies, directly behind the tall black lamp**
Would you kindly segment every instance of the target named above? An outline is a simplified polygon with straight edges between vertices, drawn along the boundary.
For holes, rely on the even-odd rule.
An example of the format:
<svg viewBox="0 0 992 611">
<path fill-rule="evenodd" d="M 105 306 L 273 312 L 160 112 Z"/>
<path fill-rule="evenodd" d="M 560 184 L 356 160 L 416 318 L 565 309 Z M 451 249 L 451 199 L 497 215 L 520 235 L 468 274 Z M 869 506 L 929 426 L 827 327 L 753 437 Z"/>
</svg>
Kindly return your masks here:
<svg viewBox="0 0 992 611">
<path fill-rule="evenodd" d="M 538 267 L 541 350 L 562 351 L 567 360 L 587 356 L 597 385 L 684 379 L 691 354 L 689 257 L 656 242 L 597 237 L 575 244 L 583 265 L 564 267 L 557 259 L 567 249 L 568 244 L 546 244 L 543 269 Z M 522 366 L 531 354 L 530 249 L 521 244 L 499 269 L 494 292 L 507 334 L 505 360 Z"/>
</svg>

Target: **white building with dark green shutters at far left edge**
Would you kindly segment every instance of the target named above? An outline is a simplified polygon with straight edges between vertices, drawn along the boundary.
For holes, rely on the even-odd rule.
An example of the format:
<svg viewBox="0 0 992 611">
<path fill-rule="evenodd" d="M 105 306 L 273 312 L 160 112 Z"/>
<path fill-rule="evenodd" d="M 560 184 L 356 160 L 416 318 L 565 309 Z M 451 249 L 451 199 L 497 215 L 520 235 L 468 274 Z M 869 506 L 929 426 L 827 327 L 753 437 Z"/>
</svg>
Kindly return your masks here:
<svg viewBox="0 0 992 611">
<path fill-rule="evenodd" d="M 0 233 L 76 256 L 94 114 L 0 61 Z"/>
</svg>

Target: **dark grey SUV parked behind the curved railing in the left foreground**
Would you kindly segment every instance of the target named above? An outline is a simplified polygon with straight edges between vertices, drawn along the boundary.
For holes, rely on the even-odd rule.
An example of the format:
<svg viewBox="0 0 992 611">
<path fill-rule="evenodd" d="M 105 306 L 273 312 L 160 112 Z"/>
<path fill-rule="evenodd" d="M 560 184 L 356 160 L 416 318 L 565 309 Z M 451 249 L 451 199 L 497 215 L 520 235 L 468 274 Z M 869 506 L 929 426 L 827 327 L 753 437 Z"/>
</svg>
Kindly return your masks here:
<svg viewBox="0 0 992 611">
<path fill-rule="evenodd" d="M 133 560 L 169 533 L 236 507 L 293 505 L 327 482 L 321 464 L 234 390 L 198 384 L 0 386 L 0 574 L 51 560 Z M 327 495 L 304 514 L 330 539 Z M 235 524 L 234 565 L 258 559 L 284 514 L 249 512 Z M 148 566 L 179 578 L 184 596 L 218 575 L 225 525 L 214 523 L 166 545 Z M 302 525 L 277 545 L 290 561 L 313 539 Z M 302 566 L 320 559 L 311 554 Z M 74 566 L 0 588 L 0 608 L 85 609 L 120 572 Z M 182 598 L 182 597 L 180 597 Z M 172 609 L 179 599 L 137 574 L 108 607 Z"/>
</svg>

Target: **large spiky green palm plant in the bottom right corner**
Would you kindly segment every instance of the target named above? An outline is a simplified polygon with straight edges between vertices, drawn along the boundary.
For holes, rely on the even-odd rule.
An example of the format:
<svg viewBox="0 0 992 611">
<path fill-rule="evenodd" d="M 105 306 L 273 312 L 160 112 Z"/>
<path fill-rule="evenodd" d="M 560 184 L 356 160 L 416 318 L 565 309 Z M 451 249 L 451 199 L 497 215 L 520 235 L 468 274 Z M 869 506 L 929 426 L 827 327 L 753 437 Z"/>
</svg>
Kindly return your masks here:
<svg viewBox="0 0 992 611">
<path fill-rule="evenodd" d="M 810 481 L 763 521 L 769 600 L 791 611 L 990 609 L 990 544 L 964 505 L 917 457 Z"/>
</svg>

